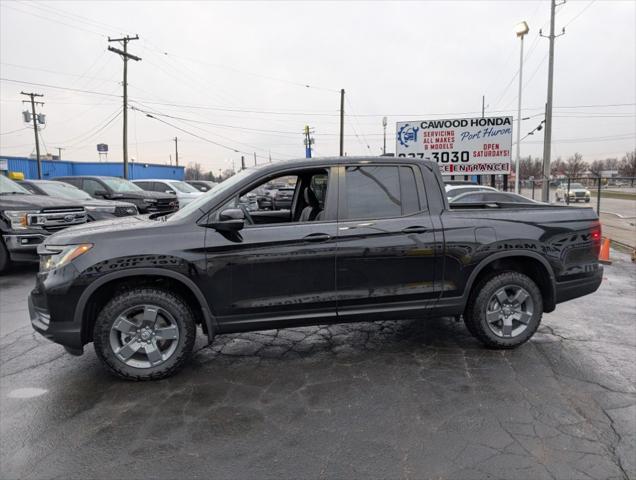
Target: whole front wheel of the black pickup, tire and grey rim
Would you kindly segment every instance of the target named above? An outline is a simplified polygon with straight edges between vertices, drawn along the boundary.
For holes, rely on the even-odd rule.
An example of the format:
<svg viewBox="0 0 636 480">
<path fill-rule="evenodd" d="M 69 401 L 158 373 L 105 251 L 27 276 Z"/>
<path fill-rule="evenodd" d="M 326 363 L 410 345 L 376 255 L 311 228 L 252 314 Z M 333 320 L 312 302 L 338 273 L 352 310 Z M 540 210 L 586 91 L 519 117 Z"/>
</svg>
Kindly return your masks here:
<svg viewBox="0 0 636 480">
<path fill-rule="evenodd" d="M 116 376 L 158 380 L 190 359 L 196 336 L 194 314 L 183 299 L 157 288 L 116 295 L 95 322 L 95 352 Z"/>
</svg>

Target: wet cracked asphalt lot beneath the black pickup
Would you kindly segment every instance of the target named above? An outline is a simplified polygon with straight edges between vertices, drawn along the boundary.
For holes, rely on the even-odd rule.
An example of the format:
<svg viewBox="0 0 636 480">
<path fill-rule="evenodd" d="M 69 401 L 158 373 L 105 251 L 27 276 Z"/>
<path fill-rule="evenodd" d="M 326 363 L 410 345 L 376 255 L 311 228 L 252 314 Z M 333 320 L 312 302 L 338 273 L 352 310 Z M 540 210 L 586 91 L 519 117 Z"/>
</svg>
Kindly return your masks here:
<svg viewBox="0 0 636 480">
<path fill-rule="evenodd" d="M 0 477 L 636 478 L 636 268 L 612 255 L 514 351 L 452 319 L 298 328 L 200 343 L 149 383 L 35 334 L 21 266 L 0 277 Z"/>
</svg>

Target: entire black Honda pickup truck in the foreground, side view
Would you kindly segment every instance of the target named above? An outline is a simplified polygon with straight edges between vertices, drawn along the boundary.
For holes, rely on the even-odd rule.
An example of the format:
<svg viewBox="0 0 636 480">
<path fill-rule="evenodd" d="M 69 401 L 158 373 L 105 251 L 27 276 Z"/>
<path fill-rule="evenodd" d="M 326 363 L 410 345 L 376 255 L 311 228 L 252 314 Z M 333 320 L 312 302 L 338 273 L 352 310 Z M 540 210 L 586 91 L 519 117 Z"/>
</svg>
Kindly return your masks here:
<svg viewBox="0 0 636 480">
<path fill-rule="evenodd" d="M 244 195 L 295 179 L 289 210 Z M 292 179 L 292 181 L 290 181 Z M 38 249 L 33 327 L 116 375 L 166 377 L 215 334 L 463 316 L 516 347 L 543 312 L 594 292 L 601 227 L 587 208 L 449 207 L 435 163 L 329 158 L 248 169 L 176 213 L 75 227 Z"/>
</svg>

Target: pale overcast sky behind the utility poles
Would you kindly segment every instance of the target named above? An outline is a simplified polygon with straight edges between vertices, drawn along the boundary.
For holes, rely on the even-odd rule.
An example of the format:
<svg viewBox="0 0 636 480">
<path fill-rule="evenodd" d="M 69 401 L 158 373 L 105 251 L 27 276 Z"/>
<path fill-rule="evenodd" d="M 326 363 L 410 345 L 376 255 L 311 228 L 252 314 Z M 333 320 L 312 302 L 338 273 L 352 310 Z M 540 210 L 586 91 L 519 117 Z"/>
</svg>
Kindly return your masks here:
<svg viewBox="0 0 636 480">
<path fill-rule="evenodd" d="M 140 36 L 129 44 L 142 58 L 129 62 L 130 104 L 171 124 L 129 112 L 138 162 L 168 163 L 175 135 L 180 163 L 215 172 L 238 165 L 234 150 L 248 164 L 253 152 L 259 163 L 301 157 L 305 125 L 316 156 L 337 154 L 340 88 L 347 154 L 380 153 L 384 115 L 393 151 L 395 122 L 479 116 L 482 95 L 487 114 L 516 116 L 514 26 L 526 20 L 523 136 L 543 119 L 548 40 L 539 29 L 549 14 L 547 0 L 1 1 L 0 154 L 34 150 L 24 90 L 44 94 L 48 152 L 95 161 L 96 144 L 107 143 L 120 161 L 123 62 L 107 36 L 122 34 Z M 566 33 L 556 40 L 553 158 L 624 155 L 636 141 L 636 2 L 570 0 L 556 25 Z M 526 138 L 522 155 L 541 155 L 542 139 Z"/>
</svg>

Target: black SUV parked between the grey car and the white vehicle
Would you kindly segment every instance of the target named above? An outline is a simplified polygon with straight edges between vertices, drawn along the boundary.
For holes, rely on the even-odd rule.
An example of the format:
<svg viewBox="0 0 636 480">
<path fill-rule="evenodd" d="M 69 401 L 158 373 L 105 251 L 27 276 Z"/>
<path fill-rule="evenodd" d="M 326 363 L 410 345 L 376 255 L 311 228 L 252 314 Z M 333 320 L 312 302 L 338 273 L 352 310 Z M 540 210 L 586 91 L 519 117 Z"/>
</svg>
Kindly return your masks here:
<svg viewBox="0 0 636 480">
<path fill-rule="evenodd" d="M 168 193 L 147 192 L 129 180 L 119 177 L 76 176 L 57 177 L 53 180 L 70 183 L 93 198 L 133 203 L 139 213 L 172 212 L 179 202 Z"/>
</svg>

